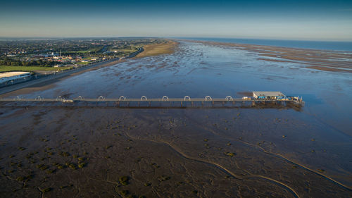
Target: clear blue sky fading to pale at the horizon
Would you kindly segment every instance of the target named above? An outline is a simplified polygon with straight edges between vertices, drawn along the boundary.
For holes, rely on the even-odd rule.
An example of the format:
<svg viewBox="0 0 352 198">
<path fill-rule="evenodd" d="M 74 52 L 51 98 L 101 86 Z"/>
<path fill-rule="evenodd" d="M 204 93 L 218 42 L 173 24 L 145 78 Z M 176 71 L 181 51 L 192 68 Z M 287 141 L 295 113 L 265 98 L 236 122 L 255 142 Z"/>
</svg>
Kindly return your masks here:
<svg viewBox="0 0 352 198">
<path fill-rule="evenodd" d="M 352 41 L 352 1 L 0 1 L 0 37 Z"/>
</svg>

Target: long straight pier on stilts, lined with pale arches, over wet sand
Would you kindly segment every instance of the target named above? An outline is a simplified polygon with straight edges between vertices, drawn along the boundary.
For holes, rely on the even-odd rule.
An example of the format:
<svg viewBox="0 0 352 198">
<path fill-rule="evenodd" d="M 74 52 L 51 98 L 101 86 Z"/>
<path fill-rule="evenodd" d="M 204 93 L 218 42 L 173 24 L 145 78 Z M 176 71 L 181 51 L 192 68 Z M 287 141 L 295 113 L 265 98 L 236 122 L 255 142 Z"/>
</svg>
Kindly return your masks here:
<svg viewBox="0 0 352 198">
<path fill-rule="evenodd" d="M 103 96 L 100 96 L 96 99 L 86 99 L 84 97 L 77 97 L 75 99 L 65 99 L 63 97 L 57 97 L 56 99 L 46 99 L 43 97 L 36 97 L 33 99 L 25 99 L 25 98 L 20 98 L 20 97 L 15 97 L 13 99 L 0 99 L 0 102 L 2 103 L 15 103 L 15 104 L 23 104 L 26 102 L 32 102 L 32 103 L 62 103 L 62 104 L 82 104 L 82 103 L 113 103 L 115 106 L 172 106 L 175 105 L 175 103 L 183 106 L 183 105 L 188 105 L 191 104 L 191 106 L 201 104 L 202 106 L 204 104 L 248 104 L 251 103 L 252 105 L 255 104 L 294 104 L 296 106 L 303 106 L 304 101 L 299 99 L 298 97 L 292 97 L 292 99 L 286 99 L 286 100 L 279 100 L 279 99 L 253 99 L 253 98 L 232 98 L 230 96 L 227 96 L 225 98 L 212 98 L 210 96 L 206 96 L 204 98 L 191 98 L 189 96 L 185 96 L 183 98 L 168 98 L 167 96 L 164 96 L 162 98 L 152 98 L 149 99 L 145 96 L 142 96 L 139 99 L 130 99 L 126 97 L 119 97 L 119 98 L 105 98 Z"/>
</svg>

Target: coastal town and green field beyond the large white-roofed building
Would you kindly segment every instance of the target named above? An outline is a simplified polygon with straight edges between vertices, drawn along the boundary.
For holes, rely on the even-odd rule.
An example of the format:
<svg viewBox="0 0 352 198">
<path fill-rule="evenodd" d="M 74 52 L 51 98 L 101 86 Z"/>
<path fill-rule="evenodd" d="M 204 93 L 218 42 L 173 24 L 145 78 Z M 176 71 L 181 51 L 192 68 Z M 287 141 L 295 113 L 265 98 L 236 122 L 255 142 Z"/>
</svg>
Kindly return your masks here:
<svg viewBox="0 0 352 198">
<path fill-rule="evenodd" d="M 69 69 L 125 58 L 146 44 L 161 42 L 150 38 L 0 40 L 0 72 Z"/>
</svg>

